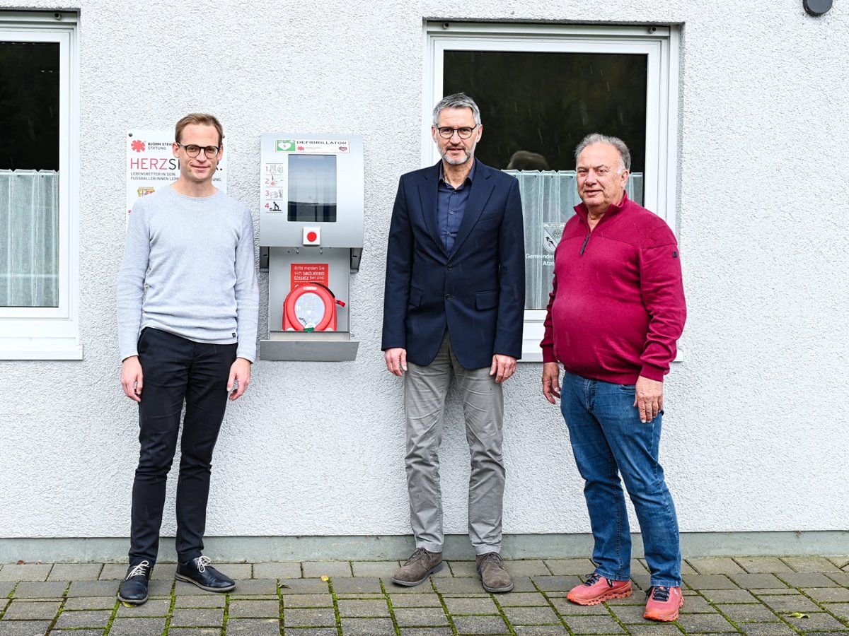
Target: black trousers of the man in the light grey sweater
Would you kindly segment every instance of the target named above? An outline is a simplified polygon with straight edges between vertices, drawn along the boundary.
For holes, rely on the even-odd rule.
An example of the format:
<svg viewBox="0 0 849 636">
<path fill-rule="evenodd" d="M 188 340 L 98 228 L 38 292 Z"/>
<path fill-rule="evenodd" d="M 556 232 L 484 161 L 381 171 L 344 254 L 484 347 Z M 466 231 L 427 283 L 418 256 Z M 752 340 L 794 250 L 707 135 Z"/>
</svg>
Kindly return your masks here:
<svg viewBox="0 0 849 636">
<path fill-rule="evenodd" d="M 177 481 L 177 558 L 189 561 L 204 549 L 212 451 L 227 407 L 227 379 L 236 344 L 194 343 L 158 329 L 138 338 L 142 401 L 138 405 L 141 452 L 132 484 L 130 563 L 156 561 L 166 480 L 180 441 Z"/>
</svg>

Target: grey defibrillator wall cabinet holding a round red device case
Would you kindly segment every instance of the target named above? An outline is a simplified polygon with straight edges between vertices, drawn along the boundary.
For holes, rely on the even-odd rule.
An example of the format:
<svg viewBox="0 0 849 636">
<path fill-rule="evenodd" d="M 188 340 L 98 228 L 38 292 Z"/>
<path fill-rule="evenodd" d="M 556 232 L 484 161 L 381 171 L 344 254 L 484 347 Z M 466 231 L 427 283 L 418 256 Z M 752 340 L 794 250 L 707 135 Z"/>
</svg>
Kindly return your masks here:
<svg viewBox="0 0 849 636">
<path fill-rule="evenodd" d="M 354 360 L 351 273 L 363 254 L 363 137 L 261 136 L 263 360 Z"/>
</svg>

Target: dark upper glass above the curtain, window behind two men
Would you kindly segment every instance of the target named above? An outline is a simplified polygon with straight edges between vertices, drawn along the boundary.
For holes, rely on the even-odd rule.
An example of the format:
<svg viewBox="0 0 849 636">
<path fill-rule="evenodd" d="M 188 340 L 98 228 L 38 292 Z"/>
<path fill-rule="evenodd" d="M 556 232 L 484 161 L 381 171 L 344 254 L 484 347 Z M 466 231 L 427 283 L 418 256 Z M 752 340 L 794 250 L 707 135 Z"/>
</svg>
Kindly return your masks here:
<svg viewBox="0 0 849 636">
<path fill-rule="evenodd" d="M 475 156 L 508 169 L 575 170 L 575 147 L 591 132 L 621 137 L 632 172 L 645 163 L 647 56 L 616 53 L 446 51 L 443 94 L 465 92 L 481 108 Z M 528 166 L 528 167 L 525 167 Z"/>
</svg>

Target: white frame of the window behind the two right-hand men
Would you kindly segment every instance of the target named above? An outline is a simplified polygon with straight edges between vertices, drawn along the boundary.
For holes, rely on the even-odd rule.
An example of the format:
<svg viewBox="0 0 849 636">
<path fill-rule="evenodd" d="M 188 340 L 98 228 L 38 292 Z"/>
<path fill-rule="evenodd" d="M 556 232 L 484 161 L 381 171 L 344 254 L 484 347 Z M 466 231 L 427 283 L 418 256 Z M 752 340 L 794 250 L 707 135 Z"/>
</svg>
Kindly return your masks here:
<svg viewBox="0 0 849 636">
<path fill-rule="evenodd" d="M 443 96 L 446 51 L 516 51 L 531 53 L 638 53 L 648 56 L 644 207 L 676 226 L 678 184 L 678 49 L 677 26 L 663 25 L 528 25 L 426 22 L 422 90 L 422 165 L 439 158 L 430 137 L 434 104 Z M 486 121 L 483 122 L 486 128 Z M 484 137 L 483 143 L 486 143 Z M 522 361 L 543 360 L 545 311 L 526 310 Z"/>
</svg>

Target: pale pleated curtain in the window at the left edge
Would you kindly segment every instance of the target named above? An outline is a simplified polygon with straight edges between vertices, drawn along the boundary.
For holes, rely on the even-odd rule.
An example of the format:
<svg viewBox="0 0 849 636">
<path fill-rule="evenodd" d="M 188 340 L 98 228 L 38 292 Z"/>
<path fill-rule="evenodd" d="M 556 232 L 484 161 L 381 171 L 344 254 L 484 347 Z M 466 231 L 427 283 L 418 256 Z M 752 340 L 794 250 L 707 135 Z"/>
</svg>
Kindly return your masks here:
<svg viewBox="0 0 849 636">
<path fill-rule="evenodd" d="M 0 307 L 59 306 L 59 173 L 0 170 Z"/>
</svg>

